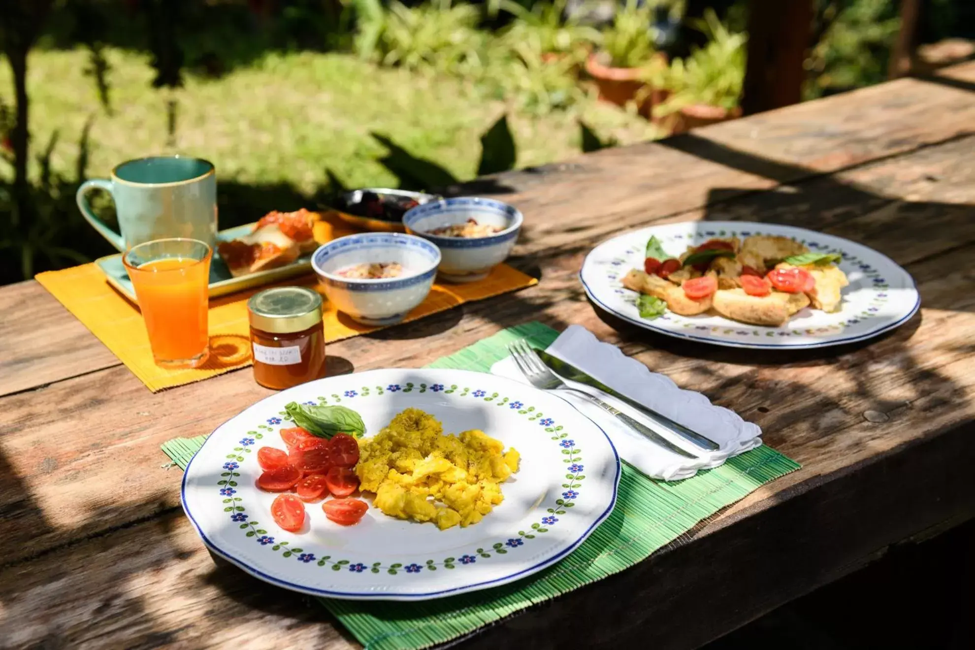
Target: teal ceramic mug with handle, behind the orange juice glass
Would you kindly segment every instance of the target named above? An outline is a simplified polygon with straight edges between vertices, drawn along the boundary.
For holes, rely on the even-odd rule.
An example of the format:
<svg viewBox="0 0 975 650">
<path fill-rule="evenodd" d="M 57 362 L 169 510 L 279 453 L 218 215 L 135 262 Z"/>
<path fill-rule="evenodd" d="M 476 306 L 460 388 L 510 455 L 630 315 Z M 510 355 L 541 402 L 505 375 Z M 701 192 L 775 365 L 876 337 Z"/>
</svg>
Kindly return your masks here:
<svg viewBox="0 0 975 650">
<path fill-rule="evenodd" d="M 120 233 L 92 211 L 92 188 L 112 195 Z M 86 180 L 78 188 L 78 209 L 101 236 L 119 250 L 143 242 L 172 237 L 200 240 L 211 246 L 216 238 L 216 172 L 199 158 L 156 156 L 122 163 L 110 180 Z"/>
</svg>

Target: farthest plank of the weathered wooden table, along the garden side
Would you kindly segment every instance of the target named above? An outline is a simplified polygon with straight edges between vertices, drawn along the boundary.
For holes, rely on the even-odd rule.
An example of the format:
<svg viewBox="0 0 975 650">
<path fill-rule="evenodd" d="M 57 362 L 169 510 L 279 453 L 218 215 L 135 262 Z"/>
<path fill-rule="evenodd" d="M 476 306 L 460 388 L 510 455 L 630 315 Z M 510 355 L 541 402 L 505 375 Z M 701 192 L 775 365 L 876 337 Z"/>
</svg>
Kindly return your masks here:
<svg viewBox="0 0 975 650">
<path fill-rule="evenodd" d="M 975 81 L 975 62 L 941 74 Z M 543 170 L 500 174 L 458 191 L 506 194 L 527 215 L 517 254 L 544 256 L 550 249 L 588 246 L 615 231 L 747 192 L 913 151 L 969 133 L 972 124 L 975 103 L 966 91 L 902 79 L 694 134 L 606 149 Z M 0 395 L 110 363 L 110 353 L 84 327 L 51 316 L 59 307 L 42 287 L 23 287 L 22 299 L 0 312 L 0 331 L 10 332 L 0 339 L 0 353 L 13 360 L 0 361 Z M 31 311 L 33 304 L 42 311 Z M 72 325 L 66 325 L 69 321 Z M 24 322 L 36 329 L 16 326 Z M 49 331 L 63 337 L 59 349 L 71 354 L 37 363 L 40 371 L 18 363 L 30 358 L 26 351 L 36 340 L 46 340 Z M 91 357 L 89 349 L 96 351 Z"/>
</svg>

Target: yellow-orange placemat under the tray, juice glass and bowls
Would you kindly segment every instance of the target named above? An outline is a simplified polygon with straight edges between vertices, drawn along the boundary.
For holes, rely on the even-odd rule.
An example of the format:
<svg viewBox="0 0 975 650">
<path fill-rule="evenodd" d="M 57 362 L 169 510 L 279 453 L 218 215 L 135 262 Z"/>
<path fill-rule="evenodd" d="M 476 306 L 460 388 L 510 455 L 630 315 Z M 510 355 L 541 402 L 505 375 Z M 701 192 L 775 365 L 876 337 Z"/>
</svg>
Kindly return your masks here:
<svg viewBox="0 0 975 650">
<path fill-rule="evenodd" d="M 138 306 L 111 287 L 95 264 L 83 264 L 61 271 L 48 271 L 36 277 L 75 318 L 88 327 L 122 363 L 132 370 L 150 391 L 181 386 L 207 379 L 228 370 L 251 364 L 251 330 L 247 318 L 247 299 L 258 287 L 210 301 L 210 360 L 203 367 L 170 370 L 152 361 L 149 338 Z M 436 314 L 473 300 L 538 284 L 534 278 L 507 264 L 500 264 L 486 279 L 463 285 L 435 284 L 405 323 Z M 321 290 L 314 275 L 292 278 L 278 285 L 301 285 Z M 323 298 L 324 298 L 323 294 Z M 325 340 L 338 341 L 382 327 L 354 322 L 325 301 Z"/>
</svg>

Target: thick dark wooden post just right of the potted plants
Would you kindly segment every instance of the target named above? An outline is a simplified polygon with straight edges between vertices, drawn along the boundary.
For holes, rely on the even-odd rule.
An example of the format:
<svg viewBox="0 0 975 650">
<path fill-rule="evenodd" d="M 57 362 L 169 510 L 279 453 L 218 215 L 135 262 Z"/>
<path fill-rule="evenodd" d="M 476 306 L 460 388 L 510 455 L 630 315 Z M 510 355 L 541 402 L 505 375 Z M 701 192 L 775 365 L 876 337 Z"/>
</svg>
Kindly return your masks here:
<svg viewBox="0 0 975 650">
<path fill-rule="evenodd" d="M 799 103 L 812 18 L 812 0 L 751 1 L 742 99 L 746 115 Z"/>
</svg>

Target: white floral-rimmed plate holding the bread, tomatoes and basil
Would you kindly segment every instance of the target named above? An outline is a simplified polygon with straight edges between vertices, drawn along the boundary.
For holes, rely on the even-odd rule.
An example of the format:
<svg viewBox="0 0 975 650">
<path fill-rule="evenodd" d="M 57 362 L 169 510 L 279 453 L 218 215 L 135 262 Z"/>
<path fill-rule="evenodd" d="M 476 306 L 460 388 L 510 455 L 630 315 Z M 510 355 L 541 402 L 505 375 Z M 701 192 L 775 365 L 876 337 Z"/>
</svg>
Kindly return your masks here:
<svg viewBox="0 0 975 650">
<path fill-rule="evenodd" d="M 803 309 L 787 325 L 746 325 L 721 316 L 640 318 L 637 294 L 622 285 L 632 268 L 643 268 L 643 249 L 656 236 L 675 257 L 690 245 L 713 237 L 783 235 L 816 252 L 839 252 L 839 268 L 849 278 L 842 308 L 827 314 Z M 920 307 L 914 280 L 892 259 L 849 240 L 804 228 L 740 221 L 686 221 L 625 233 L 599 245 L 586 256 L 579 273 L 586 293 L 619 318 L 661 334 L 737 348 L 821 348 L 872 338 L 906 323 Z"/>
</svg>

